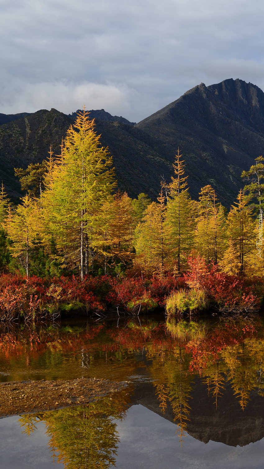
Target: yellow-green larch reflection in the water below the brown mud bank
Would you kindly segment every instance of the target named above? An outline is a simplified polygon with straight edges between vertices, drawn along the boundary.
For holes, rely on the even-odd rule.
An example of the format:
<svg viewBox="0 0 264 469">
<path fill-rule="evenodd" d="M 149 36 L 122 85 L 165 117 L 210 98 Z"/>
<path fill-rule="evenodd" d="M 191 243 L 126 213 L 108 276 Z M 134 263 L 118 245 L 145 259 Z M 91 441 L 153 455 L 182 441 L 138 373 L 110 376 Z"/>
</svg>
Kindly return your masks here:
<svg viewBox="0 0 264 469">
<path fill-rule="evenodd" d="M 68 469 L 115 465 L 119 434 L 114 420 L 121 420 L 128 408 L 128 390 L 88 405 L 21 416 L 20 425 L 30 435 L 35 424 L 45 422 L 49 447 Z"/>
</svg>

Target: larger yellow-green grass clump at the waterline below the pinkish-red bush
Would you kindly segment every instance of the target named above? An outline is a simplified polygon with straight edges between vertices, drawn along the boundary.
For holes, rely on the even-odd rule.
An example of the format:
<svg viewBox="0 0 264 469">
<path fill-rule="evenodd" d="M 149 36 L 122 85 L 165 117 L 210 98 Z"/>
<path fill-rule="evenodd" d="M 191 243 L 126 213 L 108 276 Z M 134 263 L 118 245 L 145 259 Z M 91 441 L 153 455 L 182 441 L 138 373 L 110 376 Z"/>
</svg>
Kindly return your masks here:
<svg viewBox="0 0 264 469">
<path fill-rule="evenodd" d="M 206 310 L 208 307 L 209 300 L 204 290 L 181 288 L 172 292 L 166 298 L 166 313 L 168 315 L 191 314 L 192 312 Z"/>
</svg>

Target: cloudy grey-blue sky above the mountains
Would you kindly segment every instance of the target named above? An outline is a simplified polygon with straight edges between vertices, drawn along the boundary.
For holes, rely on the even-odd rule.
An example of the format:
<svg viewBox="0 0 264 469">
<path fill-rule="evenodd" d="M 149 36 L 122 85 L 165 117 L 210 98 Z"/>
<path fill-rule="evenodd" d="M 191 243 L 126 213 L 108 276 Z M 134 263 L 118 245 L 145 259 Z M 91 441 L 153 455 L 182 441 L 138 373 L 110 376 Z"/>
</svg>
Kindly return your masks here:
<svg viewBox="0 0 264 469">
<path fill-rule="evenodd" d="M 264 90 L 263 0 L 0 0 L 0 113 L 138 122 L 203 82 Z"/>
</svg>

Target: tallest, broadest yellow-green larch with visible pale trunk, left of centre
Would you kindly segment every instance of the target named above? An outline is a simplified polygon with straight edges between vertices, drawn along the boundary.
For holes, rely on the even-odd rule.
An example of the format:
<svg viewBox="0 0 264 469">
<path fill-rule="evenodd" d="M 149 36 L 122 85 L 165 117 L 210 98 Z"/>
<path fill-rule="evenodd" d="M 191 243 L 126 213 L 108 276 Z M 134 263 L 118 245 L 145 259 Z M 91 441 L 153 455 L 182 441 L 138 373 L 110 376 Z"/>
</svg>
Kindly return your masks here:
<svg viewBox="0 0 264 469">
<path fill-rule="evenodd" d="M 52 171 L 52 190 L 46 189 L 44 196 L 47 233 L 63 252 L 65 264 L 79 265 L 82 280 L 93 222 L 115 187 L 113 159 L 94 127 L 88 112 L 77 113 Z"/>
</svg>

